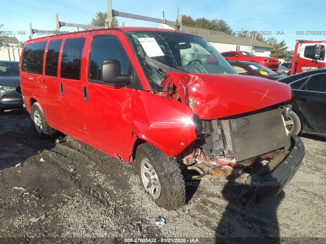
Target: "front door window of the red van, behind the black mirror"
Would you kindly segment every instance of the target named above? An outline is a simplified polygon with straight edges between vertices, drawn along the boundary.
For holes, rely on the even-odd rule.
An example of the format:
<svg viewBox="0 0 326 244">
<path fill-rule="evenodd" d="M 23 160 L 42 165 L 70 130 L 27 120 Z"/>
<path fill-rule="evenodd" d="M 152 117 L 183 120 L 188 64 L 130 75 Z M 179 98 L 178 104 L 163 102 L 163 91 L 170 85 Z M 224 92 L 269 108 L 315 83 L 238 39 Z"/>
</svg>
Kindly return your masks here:
<svg viewBox="0 0 326 244">
<path fill-rule="evenodd" d="M 106 59 L 119 60 L 121 74 L 128 74 L 130 60 L 119 39 L 112 36 L 97 36 L 93 40 L 88 78 L 102 81 L 102 64 Z"/>
</svg>

